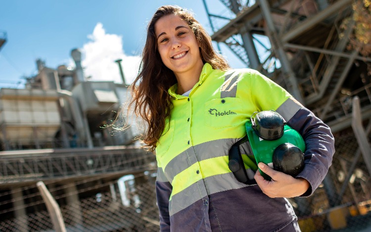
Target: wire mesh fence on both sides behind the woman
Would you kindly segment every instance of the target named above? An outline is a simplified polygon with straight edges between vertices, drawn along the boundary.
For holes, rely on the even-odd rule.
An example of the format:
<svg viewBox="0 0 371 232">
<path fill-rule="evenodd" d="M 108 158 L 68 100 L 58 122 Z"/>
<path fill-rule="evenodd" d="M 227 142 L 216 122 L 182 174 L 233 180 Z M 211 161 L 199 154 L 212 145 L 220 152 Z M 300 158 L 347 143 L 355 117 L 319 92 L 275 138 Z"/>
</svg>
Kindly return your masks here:
<svg viewBox="0 0 371 232">
<path fill-rule="evenodd" d="M 289 201 L 303 232 L 371 231 L 371 177 L 363 154 L 351 129 L 334 136 L 336 152 L 324 182 L 312 196 Z M 159 231 L 155 179 L 152 159 L 151 165 L 141 165 L 130 173 L 68 177 L 45 183 L 60 206 L 68 232 L 152 232 Z M 54 231 L 34 182 L 10 190 L 2 188 L 1 232 Z"/>
</svg>

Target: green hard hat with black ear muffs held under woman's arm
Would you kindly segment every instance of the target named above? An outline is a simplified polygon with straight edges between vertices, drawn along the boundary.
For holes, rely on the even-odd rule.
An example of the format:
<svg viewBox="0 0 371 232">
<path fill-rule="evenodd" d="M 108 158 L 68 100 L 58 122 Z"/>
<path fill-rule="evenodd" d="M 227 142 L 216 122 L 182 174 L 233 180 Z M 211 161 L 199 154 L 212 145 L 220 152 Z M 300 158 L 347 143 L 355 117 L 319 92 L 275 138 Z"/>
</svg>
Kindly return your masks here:
<svg viewBox="0 0 371 232">
<path fill-rule="evenodd" d="M 305 143 L 301 135 L 286 125 L 282 116 L 273 110 L 254 112 L 250 120 L 245 124 L 247 135 L 229 150 L 228 166 L 234 177 L 248 185 L 255 182 L 247 177 L 239 150 L 239 145 L 246 141 L 250 142 L 256 163 L 263 162 L 276 171 L 297 176 L 304 168 L 302 151 L 305 150 Z M 271 180 L 267 174 L 259 171 L 266 180 Z"/>
</svg>

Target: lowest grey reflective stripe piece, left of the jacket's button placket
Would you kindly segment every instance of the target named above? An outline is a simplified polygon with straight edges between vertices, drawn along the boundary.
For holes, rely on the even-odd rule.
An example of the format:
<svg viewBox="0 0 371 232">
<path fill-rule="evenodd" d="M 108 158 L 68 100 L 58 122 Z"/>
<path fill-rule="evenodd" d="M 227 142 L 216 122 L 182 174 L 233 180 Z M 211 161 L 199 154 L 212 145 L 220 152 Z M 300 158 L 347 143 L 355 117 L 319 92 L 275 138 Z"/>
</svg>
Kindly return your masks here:
<svg viewBox="0 0 371 232">
<path fill-rule="evenodd" d="M 188 186 L 178 194 L 172 195 L 169 201 L 170 216 L 178 213 L 205 196 L 207 196 L 207 193 L 202 180 Z"/>
</svg>

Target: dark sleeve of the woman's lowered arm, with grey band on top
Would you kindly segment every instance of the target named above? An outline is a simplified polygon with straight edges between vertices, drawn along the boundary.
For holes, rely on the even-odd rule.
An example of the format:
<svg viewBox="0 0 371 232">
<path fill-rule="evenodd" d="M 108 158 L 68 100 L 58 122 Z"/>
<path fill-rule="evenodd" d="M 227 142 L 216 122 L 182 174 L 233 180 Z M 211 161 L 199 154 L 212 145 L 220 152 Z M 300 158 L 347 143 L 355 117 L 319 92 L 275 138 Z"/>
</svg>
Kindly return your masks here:
<svg viewBox="0 0 371 232">
<path fill-rule="evenodd" d="M 169 199 L 173 186 L 170 182 L 165 180 L 162 169 L 159 168 L 157 171 L 156 180 L 156 200 L 157 207 L 160 212 L 160 231 L 170 232 L 170 215 L 169 215 Z"/>
</svg>

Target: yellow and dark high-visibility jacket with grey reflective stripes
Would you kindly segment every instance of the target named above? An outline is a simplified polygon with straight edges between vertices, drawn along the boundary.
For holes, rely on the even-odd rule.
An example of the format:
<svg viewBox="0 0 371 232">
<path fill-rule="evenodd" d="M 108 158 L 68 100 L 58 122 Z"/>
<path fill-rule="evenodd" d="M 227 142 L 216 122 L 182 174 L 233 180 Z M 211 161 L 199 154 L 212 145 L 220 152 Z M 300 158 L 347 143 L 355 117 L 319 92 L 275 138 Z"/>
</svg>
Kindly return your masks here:
<svg viewBox="0 0 371 232">
<path fill-rule="evenodd" d="M 295 219 L 285 198 L 239 183 L 228 168 L 229 148 L 246 135 L 256 111 L 276 110 L 306 142 L 308 196 L 330 166 L 329 128 L 270 79 L 252 69 L 227 72 L 206 63 L 189 96 L 169 89 L 174 107 L 156 147 L 156 195 L 161 231 L 278 231 Z M 249 178 L 257 170 L 249 143 L 240 147 Z"/>
</svg>

